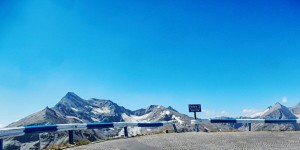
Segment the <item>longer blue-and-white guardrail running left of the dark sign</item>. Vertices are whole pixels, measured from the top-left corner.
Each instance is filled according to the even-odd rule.
[[[177,132],[175,126],[176,121],[165,122],[142,122],[142,123],[129,123],[129,122],[98,122],[98,123],[83,123],[83,124],[53,124],[53,125],[37,125],[37,126],[24,126],[14,128],[0,129],[0,150],[3,150],[3,139],[8,137],[23,136],[28,133],[42,133],[42,132],[69,132],[69,144],[74,144],[74,130],[87,130],[87,129],[102,129],[102,128],[124,128],[124,135],[128,137],[128,127],[162,127],[172,125],[174,132]]]

